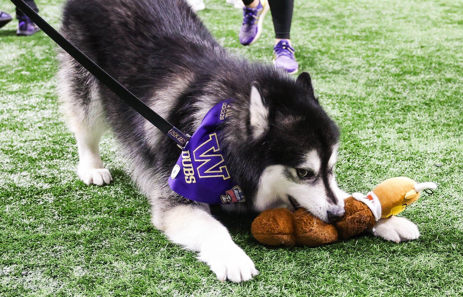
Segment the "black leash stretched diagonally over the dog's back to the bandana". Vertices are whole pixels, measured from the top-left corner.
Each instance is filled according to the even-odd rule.
[[[63,37],[58,31],[56,31],[50,24],[48,24],[37,12],[29,7],[23,0],[11,0],[19,10],[24,12],[42,31],[45,32],[53,41],[55,41],[62,49],[64,49],[75,61],[79,62],[83,68],[87,69],[88,72],[93,74],[98,80],[101,81],[108,89],[113,91],[120,99],[124,100],[125,103],[131,106],[137,111],[142,117],[146,118],[151,124],[157,129],[161,130],[164,134],[172,138],[177,142],[177,146],[181,149],[185,148],[190,136],[183,133],[181,130],[175,128],[172,124],[166,121],[163,117],[158,115],[152,109],[150,109],[144,102],[138,99],[137,96],[132,94],[124,86],[122,86],[117,80],[111,75],[107,74],[100,66],[93,62],[88,56],[82,53],[74,44],[70,43],[69,40]]]

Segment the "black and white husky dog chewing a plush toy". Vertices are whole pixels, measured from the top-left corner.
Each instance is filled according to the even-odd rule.
[[[193,134],[207,111],[233,99],[223,146],[230,175],[246,202],[225,210],[262,211],[303,206],[325,221],[344,214],[345,192],[333,166],[339,130],[320,107],[309,74],[297,80],[269,65],[250,63],[223,49],[183,0],[69,0],[62,33],[122,85],[177,128]],[[147,120],[61,52],[60,89],[79,152],[77,174],[86,184],[112,180],[98,143],[113,130],[131,176],[149,198],[152,223],[169,239],[198,252],[220,280],[257,275],[207,204],[168,186],[180,150]],[[417,238],[415,224],[382,219],[374,234]]]

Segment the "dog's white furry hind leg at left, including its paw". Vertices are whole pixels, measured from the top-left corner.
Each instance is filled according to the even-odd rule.
[[[103,186],[113,178],[103,166],[99,142],[107,130],[93,76],[67,54],[60,54],[59,91],[63,113],[74,132],[79,153],[77,175],[85,184]]]

